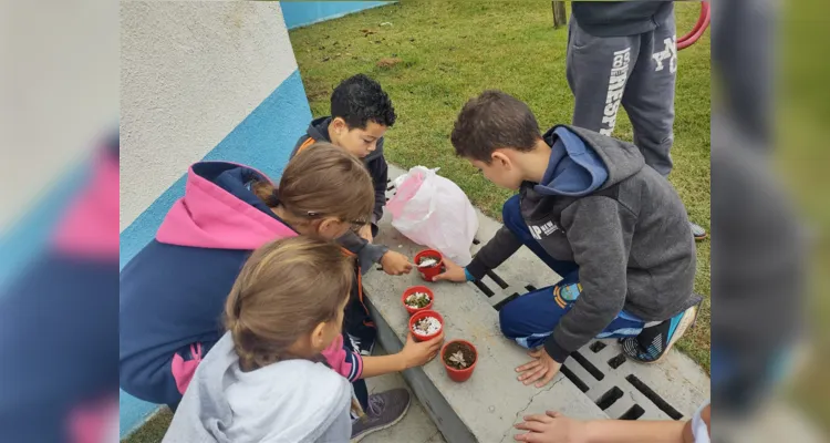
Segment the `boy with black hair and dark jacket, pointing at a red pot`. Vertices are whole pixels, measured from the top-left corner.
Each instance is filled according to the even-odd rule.
[[[390,275],[408,274],[413,265],[406,256],[390,250],[383,245],[373,245],[377,236],[377,222],[386,205],[387,169],[383,156],[383,135],[395,124],[395,109],[381,85],[366,75],[351,76],[338,85],[331,96],[331,116],[315,119],[307,134],[294,146],[292,156],[307,150],[318,141],[340,146],[361,158],[372,175],[375,205],[370,225],[356,234],[349,233],[340,239],[346,248],[357,254],[361,268],[371,269],[372,262],[381,264]]]

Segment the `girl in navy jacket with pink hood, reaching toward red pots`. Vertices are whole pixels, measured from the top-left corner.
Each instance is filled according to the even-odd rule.
[[[372,197],[372,179],[361,162],[326,143],[294,157],[279,188],[247,166],[193,165],[185,196],[174,204],[156,239],[121,272],[122,389],[175,409],[199,361],[221,337],[218,319],[225,299],[250,253],[297,235],[338,238],[369,220]],[[362,357],[353,338],[373,338],[374,324],[357,280],[344,320],[350,339],[341,357],[349,364],[339,367],[367,408],[364,424],[377,429],[405,412],[408,393],[370,396],[361,379],[424,364],[440,340],[407,341],[397,354]]]

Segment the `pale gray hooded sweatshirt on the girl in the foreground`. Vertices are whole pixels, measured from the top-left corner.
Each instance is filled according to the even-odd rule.
[[[163,443],[347,442],[351,402],[349,381],[323,363],[242,372],[228,332],[196,370]]]

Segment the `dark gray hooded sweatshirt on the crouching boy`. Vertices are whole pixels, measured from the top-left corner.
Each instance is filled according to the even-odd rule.
[[[636,146],[575,126],[554,126],[542,183],[525,183],[525,223],[551,257],[575,261],[582,292],[544,349],[562,362],[625,309],[662,321],[701,301],[693,295],[695,244],[686,209]],[[507,228],[467,270],[476,279],[521,247]],[[553,300],[551,299],[551,302]]]

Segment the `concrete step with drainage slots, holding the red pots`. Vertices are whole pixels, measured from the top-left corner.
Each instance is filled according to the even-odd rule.
[[[404,172],[390,167],[390,176]],[[390,195],[394,189],[390,189]],[[474,250],[486,244],[499,223],[479,213]],[[377,243],[414,256],[423,246],[397,233],[388,215],[381,220]],[[643,365],[620,357],[613,341],[594,341],[574,353],[546,388],[526,387],[515,368],[529,358],[504,338],[498,311],[511,297],[560,279],[530,250],[522,248],[479,285],[426,284],[435,292],[434,309],[445,319],[447,340],[466,339],[479,352],[470,380],[449,380],[438,359],[404,372],[427,414],[447,442],[507,442],[526,413],[558,410],[579,419],[688,419],[709,396],[706,374],[687,357],[672,351],[661,363]],[[378,327],[378,341],[390,352],[403,347],[408,315],[401,293],[424,285],[419,275],[391,277],[381,271],[363,279],[369,306]],[[396,434],[397,435],[397,434]]]

